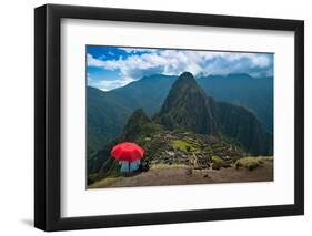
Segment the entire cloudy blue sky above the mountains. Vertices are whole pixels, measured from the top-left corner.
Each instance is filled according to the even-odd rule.
[[[151,74],[194,76],[249,73],[273,75],[272,53],[242,53],[173,49],[87,45],[89,86],[110,91]]]

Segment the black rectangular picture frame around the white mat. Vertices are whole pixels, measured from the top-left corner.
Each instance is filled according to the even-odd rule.
[[[103,216],[60,216],[61,19],[292,31],[295,38],[294,204]],[[34,226],[47,232],[304,214],[304,22],[182,12],[46,4],[34,10]]]

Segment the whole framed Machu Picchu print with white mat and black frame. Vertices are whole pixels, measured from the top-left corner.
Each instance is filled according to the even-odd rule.
[[[304,23],[34,10],[34,225],[301,215]]]

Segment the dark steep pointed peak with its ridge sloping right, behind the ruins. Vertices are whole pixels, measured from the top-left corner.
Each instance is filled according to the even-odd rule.
[[[189,72],[173,83],[155,122],[168,130],[181,126],[199,134],[223,134],[253,155],[268,155],[272,146],[272,135],[251,111],[208,96]],[[218,148],[220,143],[213,145]]]

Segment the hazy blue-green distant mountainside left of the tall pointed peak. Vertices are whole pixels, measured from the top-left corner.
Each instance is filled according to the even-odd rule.
[[[115,140],[139,107],[149,115],[154,114],[175,80],[177,76],[154,74],[108,92],[88,86],[88,145],[101,150]]]

